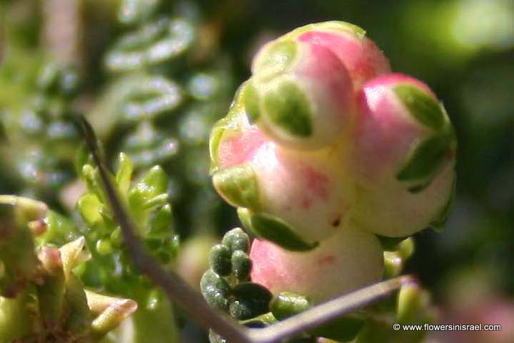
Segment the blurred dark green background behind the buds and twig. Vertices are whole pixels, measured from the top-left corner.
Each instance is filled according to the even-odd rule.
[[[513,1],[0,0],[0,20],[0,194],[70,212],[81,186],[68,119],[83,112],[111,161],[126,151],[136,169],[161,164],[170,174],[185,239],[179,268],[191,280],[203,272],[195,259],[237,225],[211,189],[206,143],[253,53],[303,24],[363,27],[395,71],[438,94],[458,134],[455,207],[443,232],[415,235],[405,272],[430,289],[441,322],[503,324],[487,336],[429,339],[513,338]],[[42,91],[49,62],[74,66],[78,91]]]

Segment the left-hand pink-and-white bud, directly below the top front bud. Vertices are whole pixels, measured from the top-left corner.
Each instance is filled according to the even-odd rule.
[[[346,221],[351,185],[338,149],[293,151],[239,112],[218,136],[213,184],[229,204],[280,219],[304,242],[330,237]],[[211,143],[213,143],[211,141]]]

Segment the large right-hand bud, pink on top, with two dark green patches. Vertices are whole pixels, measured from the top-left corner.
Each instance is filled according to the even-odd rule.
[[[358,184],[353,220],[403,237],[438,219],[453,193],[455,134],[443,106],[421,81],[388,74],[358,93],[344,164]]]

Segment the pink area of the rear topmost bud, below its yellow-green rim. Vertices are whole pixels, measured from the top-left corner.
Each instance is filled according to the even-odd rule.
[[[350,32],[308,31],[298,37],[300,41],[330,49],[348,69],[355,89],[375,76],[388,73],[388,60],[373,41],[359,38]]]

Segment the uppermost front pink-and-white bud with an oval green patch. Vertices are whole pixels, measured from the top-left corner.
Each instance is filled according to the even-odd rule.
[[[341,60],[325,46],[271,41],[253,60],[252,71],[246,111],[277,143],[319,149],[350,129],[353,84]]]

